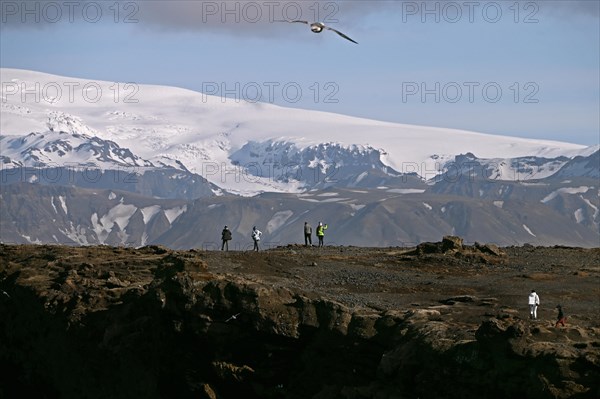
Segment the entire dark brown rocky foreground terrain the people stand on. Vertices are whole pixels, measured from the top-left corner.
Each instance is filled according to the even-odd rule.
[[[600,397],[599,248],[0,245],[0,290],[2,398]]]

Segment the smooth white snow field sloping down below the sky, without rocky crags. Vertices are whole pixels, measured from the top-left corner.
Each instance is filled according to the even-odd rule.
[[[149,161],[181,168],[180,162],[217,186],[242,195],[302,190],[299,182],[281,182],[264,172],[262,177],[249,177],[246,164],[268,165],[267,160],[252,152],[242,162],[230,159],[248,142],[289,143],[298,150],[323,143],[371,147],[381,150],[385,165],[426,178],[438,173],[441,162],[467,152],[492,159],[506,169],[510,168],[510,159],[516,157],[572,158],[598,149],[236,102],[175,87],[92,81],[6,68],[0,74],[2,155],[13,159],[21,156],[14,142],[7,144],[10,136],[64,131],[110,140],[129,149],[139,157],[132,158],[131,165],[144,166],[144,161]],[[73,165],[89,161],[89,156],[66,152],[48,161]],[[26,165],[26,159],[19,161]],[[320,159],[313,162],[326,164]],[[502,173],[511,175],[506,170]]]

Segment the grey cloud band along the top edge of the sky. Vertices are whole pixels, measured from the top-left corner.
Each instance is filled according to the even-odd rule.
[[[462,9],[465,7],[462,0],[0,0],[0,3],[2,28],[41,28],[61,23],[127,23],[137,24],[143,29],[210,31],[251,36],[277,35],[290,31],[289,26],[284,28],[286,24],[281,21],[291,19],[318,20],[341,28],[355,26],[377,13],[395,13],[401,23],[415,9],[420,13],[426,8],[442,9],[449,3]],[[503,0],[469,3],[477,4],[478,7],[489,3],[501,4],[506,12],[515,4],[514,1]],[[596,0],[522,0],[519,4],[522,13],[533,13],[536,17],[551,16],[569,21],[581,17],[597,19],[600,16],[600,2]]]

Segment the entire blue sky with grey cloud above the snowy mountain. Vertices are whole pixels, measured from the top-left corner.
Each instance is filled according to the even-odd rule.
[[[595,0],[1,3],[2,67],[600,143]]]

